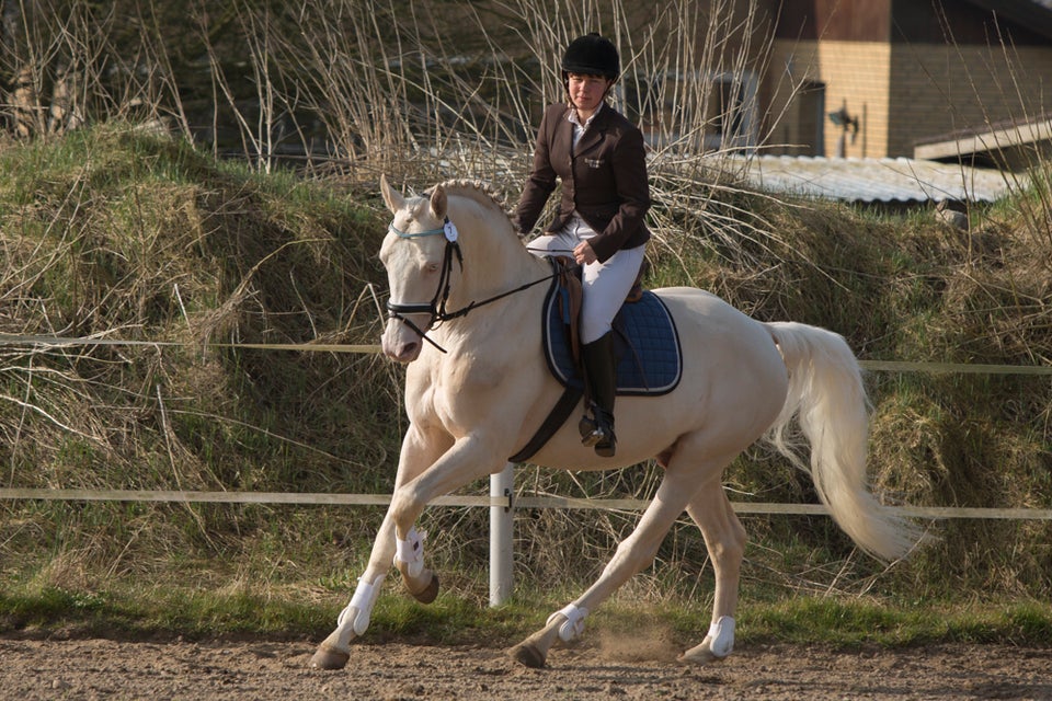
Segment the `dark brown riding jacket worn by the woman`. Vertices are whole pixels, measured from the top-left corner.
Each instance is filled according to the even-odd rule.
[[[554,191],[557,177],[561,179],[562,202],[546,231],[561,229],[576,210],[597,232],[590,243],[599,262],[605,262],[621,249],[634,249],[650,240],[643,222],[650,209],[643,135],[604,104],[573,152],[569,112],[564,104],[545,110],[534,166],[514,219],[519,232],[529,232]]]

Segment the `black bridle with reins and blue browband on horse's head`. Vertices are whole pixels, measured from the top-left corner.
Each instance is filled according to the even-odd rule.
[[[504,299],[510,295],[515,292],[521,292],[525,289],[533,287],[534,285],[540,285],[547,280],[558,277],[561,273],[553,273],[546,277],[542,277],[538,280],[531,283],[526,283],[521,285],[515,289],[511,289],[506,292],[501,292],[482,301],[472,301],[466,307],[462,307],[456,311],[449,311],[446,309],[446,302],[449,301],[449,289],[453,281],[453,261],[456,257],[457,264],[460,266],[460,269],[464,271],[464,252],[460,250],[460,243],[458,239],[457,227],[451,221],[449,217],[446,217],[443,221],[442,227],[438,229],[427,229],[426,231],[419,231],[416,233],[409,233],[408,231],[401,231],[392,221],[388,225],[387,230],[397,235],[399,239],[424,239],[427,237],[445,235],[446,238],[446,249],[442,256],[442,272],[438,275],[438,288],[435,290],[435,296],[432,297],[430,302],[415,302],[415,303],[405,303],[405,302],[393,302],[390,299],[387,300],[387,318],[388,319],[398,319],[400,322],[412,329],[416,335],[421,338],[435,346],[438,350],[447,353],[445,348],[435,343],[432,338],[427,336],[427,331],[434,329],[437,324],[441,324],[446,321],[451,321],[454,319],[459,319],[460,317],[467,317],[471,311],[479,307],[483,307],[491,302],[495,302],[499,299]],[[405,314],[430,314],[431,319],[425,324],[426,330],[421,330],[420,326],[414,324],[412,320],[407,319]]]

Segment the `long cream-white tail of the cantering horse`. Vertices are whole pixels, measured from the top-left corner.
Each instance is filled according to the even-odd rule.
[[[819,498],[860,548],[881,560],[902,558],[922,533],[870,491],[869,402],[855,354],[842,336],[824,329],[792,322],[767,326],[789,370],[789,393],[766,438],[811,474]],[[810,468],[789,438],[793,416],[811,444]]]

